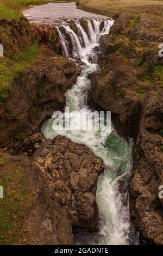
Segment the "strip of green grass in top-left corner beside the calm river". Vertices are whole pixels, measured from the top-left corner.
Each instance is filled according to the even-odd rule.
[[[61,1],[77,2],[76,0],[0,0],[0,19],[19,19],[22,16],[21,10],[27,8],[29,5],[57,3]]]

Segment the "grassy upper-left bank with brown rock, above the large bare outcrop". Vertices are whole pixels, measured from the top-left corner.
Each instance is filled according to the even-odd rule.
[[[9,96],[10,85],[14,78],[32,65],[38,56],[43,55],[38,41],[35,39],[35,29],[24,19],[22,10],[27,9],[30,5],[49,2],[60,3],[61,1],[9,0],[4,2],[0,0],[0,43],[4,48],[4,58],[0,59],[0,103]],[[74,1],[72,0],[72,2]],[[17,31],[16,27],[18,27]],[[19,41],[17,40],[17,34],[20,35]]]

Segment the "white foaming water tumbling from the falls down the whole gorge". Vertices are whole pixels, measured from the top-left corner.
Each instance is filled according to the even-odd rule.
[[[104,28],[100,32],[101,22],[104,22]],[[77,83],[67,90],[66,99],[67,106],[70,111],[78,110],[86,111],[87,106],[87,89],[90,88],[91,82],[88,75],[98,69],[96,62],[90,62],[90,57],[95,56],[95,46],[98,46],[99,34],[109,33],[109,29],[113,23],[112,20],[106,18],[87,19],[87,33],[83,31],[79,21],[76,22],[77,28],[83,36],[84,45],[79,40],[76,33],[72,31],[70,25],[63,26],[65,31],[71,35],[71,44],[73,44],[73,58],[80,56],[84,63],[82,72],[78,77]],[[66,43],[64,35],[60,36],[62,46],[65,48]],[[64,52],[66,52],[64,50]],[[78,121],[78,117],[74,117]],[[72,118],[73,119],[73,118]],[[86,120],[85,120],[86,121]],[[104,173],[99,176],[97,186],[97,204],[99,214],[102,218],[102,224],[99,232],[99,244],[102,245],[128,245],[130,218],[128,203],[122,203],[121,194],[118,191],[118,176],[131,169],[131,143],[119,137],[112,126],[112,133],[109,137],[101,136],[101,133],[92,131],[74,131],[73,127],[70,131],[54,131],[52,129],[53,119],[50,119],[42,127],[43,135],[46,138],[53,139],[58,134],[64,135],[73,142],[85,144],[96,156],[103,159],[105,164]]]

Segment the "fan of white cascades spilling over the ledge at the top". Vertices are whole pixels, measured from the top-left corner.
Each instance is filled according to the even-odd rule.
[[[102,34],[109,34],[109,28],[112,25],[113,21],[111,19],[84,19],[84,21],[87,23],[87,26],[85,30],[82,27],[82,24],[80,23],[80,20],[73,20],[74,27],[76,28],[77,32],[74,32],[74,30],[71,28],[70,21],[64,21],[61,22],[60,25],[57,26],[57,30],[60,36],[60,42],[62,44],[62,53],[65,56],[69,56],[72,58],[80,58],[82,59],[85,57],[83,54],[85,53],[85,50],[89,49],[89,47],[92,46],[92,44],[98,44],[99,36]],[[103,24],[102,32],[100,32],[101,24]],[[64,31],[61,31],[60,28],[64,28]],[[68,55],[68,52],[70,53],[70,49],[68,48],[68,45],[66,44],[66,35],[70,35],[71,37],[71,46],[72,46],[72,56],[71,54]]]

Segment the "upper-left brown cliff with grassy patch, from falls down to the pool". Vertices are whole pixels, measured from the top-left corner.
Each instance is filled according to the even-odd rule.
[[[4,46],[4,57],[0,62],[0,94],[4,90],[7,95],[0,102],[0,145],[10,148],[14,142],[39,131],[53,111],[62,109],[65,92],[76,82],[80,68],[57,54],[61,53],[61,48],[54,27],[36,27],[25,18],[1,21],[0,27],[0,42]],[[35,41],[39,56],[34,58],[35,52],[31,52],[32,61],[29,62],[26,56]],[[26,49],[23,58],[22,50]],[[18,71],[15,71],[17,66]],[[3,82],[6,72],[8,80]]]

